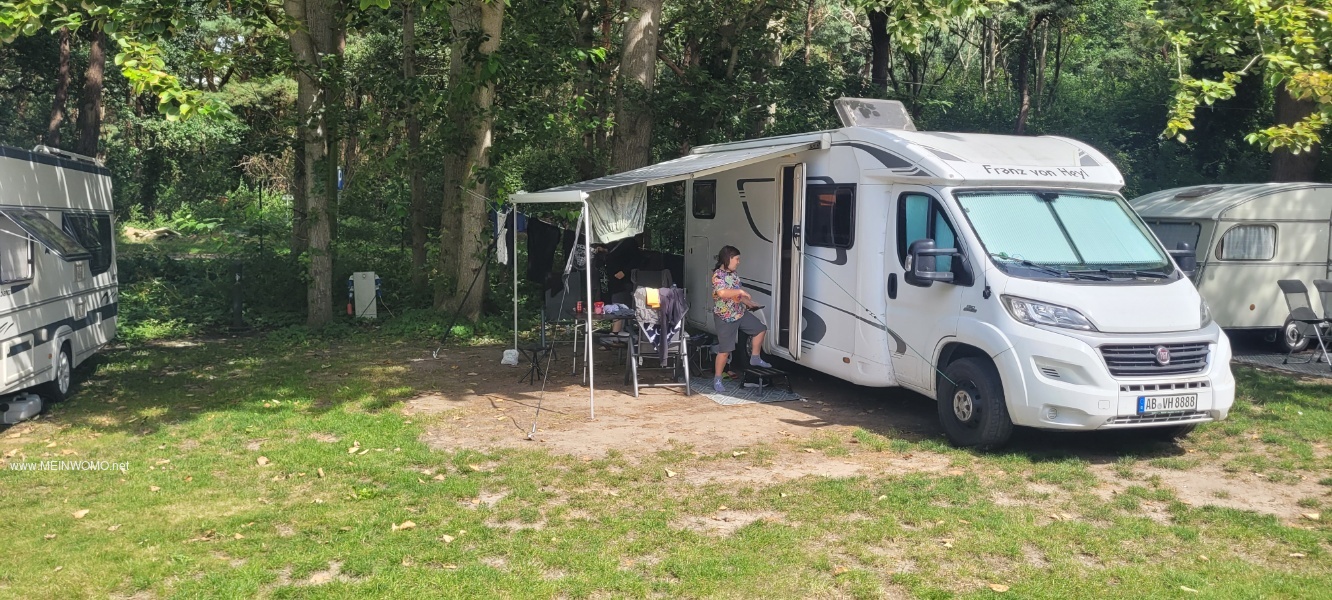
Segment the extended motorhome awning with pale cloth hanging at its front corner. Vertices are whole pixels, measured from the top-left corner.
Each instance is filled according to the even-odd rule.
[[[593,241],[614,241],[643,231],[647,217],[647,187],[703,177],[718,171],[818,148],[818,141],[799,141],[757,148],[721,149],[681,156],[675,160],[607,175],[587,181],[515,193],[515,203],[567,203],[586,197],[590,211]]]

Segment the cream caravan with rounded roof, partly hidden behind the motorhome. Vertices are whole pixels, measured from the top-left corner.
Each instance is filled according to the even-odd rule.
[[[1289,321],[1276,281],[1309,285],[1332,275],[1332,185],[1195,185],[1148,193],[1131,204],[1167,248],[1180,243],[1196,248],[1193,283],[1217,324],[1265,329],[1285,351],[1308,345]]]

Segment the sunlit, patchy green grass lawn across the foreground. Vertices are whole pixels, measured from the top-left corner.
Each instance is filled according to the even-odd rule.
[[[1100,471],[1067,448],[978,455],[863,428],[585,459],[426,447],[450,415],[401,411],[430,389],[404,367],[425,345],[274,335],[105,352],[72,400],[0,431],[0,455],[128,468],[0,471],[0,596],[1332,597],[1325,381],[1237,369],[1231,420],[1181,449],[1130,444]],[[948,468],[673,475],[794,452]],[[1319,483],[1309,516],[1184,503],[1151,475],[1203,467]],[[1127,484],[1107,493],[1102,471]]]

